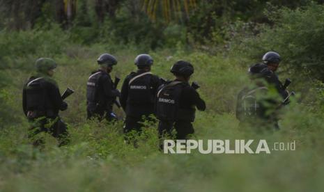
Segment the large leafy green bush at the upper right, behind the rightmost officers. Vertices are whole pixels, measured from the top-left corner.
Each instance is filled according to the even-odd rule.
[[[260,60],[266,51],[277,51],[284,70],[324,81],[324,6],[310,3],[268,14],[274,26],[244,40],[240,45],[243,54]]]

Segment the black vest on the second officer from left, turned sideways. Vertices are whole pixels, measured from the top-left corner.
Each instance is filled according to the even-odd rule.
[[[87,104],[96,104],[98,103],[98,81],[102,76],[102,72],[95,72],[91,74],[86,83],[86,102]]]

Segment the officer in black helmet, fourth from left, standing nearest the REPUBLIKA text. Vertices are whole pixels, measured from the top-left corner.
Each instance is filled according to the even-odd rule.
[[[199,93],[188,83],[194,73],[194,67],[187,61],[178,61],[171,67],[176,76],[167,81],[157,92],[156,113],[159,122],[159,134],[171,134],[176,129],[176,139],[186,139],[194,133],[196,108],[205,111],[206,104]]]

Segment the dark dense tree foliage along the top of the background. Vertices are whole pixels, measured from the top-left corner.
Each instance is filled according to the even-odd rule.
[[[0,1],[0,30],[51,29],[55,22],[74,42],[134,43],[146,49],[221,43],[233,22],[273,24],[265,11],[296,9],[298,1],[148,0]],[[322,1],[318,0],[319,3]],[[150,11],[151,10],[151,11]],[[288,9],[286,9],[288,10]],[[152,16],[152,14],[155,14]]]

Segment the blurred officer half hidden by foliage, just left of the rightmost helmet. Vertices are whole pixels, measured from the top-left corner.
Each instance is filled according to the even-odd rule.
[[[268,94],[268,83],[261,73],[267,66],[256,64],[249,67],[249,86],[238,93],[236,102],[236,118],[240,127],[263,131],[263,128],[279,129],[277,124],[277,109],[280,105],[280,95]]]

